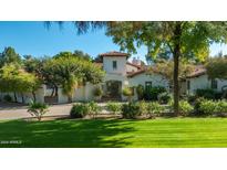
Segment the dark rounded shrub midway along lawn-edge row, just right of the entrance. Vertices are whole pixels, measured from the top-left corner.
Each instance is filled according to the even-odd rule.
[[[128,103],[122,105],[123,118],[136,118],[140,115],[140,106],[136,103]]]

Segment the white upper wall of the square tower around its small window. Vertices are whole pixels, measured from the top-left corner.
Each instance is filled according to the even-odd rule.
[[[113,61],[116,61],[117,68],[113,70]],[[106,73],[115,73],[126,75],[126,57],[103,57],[103,68]]]

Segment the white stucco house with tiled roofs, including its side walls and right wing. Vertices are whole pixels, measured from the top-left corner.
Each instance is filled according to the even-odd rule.
[[[159,74],[147,74],[147,66],[142,65],[138,59],[133,59],[128,62],[128,54],[121,52],[107,52],[100,54],[100,61],[94,63],[94,66],[100,66],[105,71],[105,76],[102,83],[91,84],[86,83],[84,86],[80,86],[74,89],[72,100],[73,102],[89,102],[95,100],[94,89],[101,87],[103,89],[103,100],[126,100],[126,96],[122,94],[123,88],[131,87],[134,92],[133,98],[137,100],[137,94],[135,87],[138,85],[146,86],[163,86],[167,91],[169,89],[169,82]],[[180,94],[195,94],[196,89],[213,88],[217,92],[227,89],[227,79],[210,79],[206,73],[206,68],[203,65],[196,67],[196,70],[180,81]],[[52,87],[42,85],[35,92],[37,102],[63,104],[68,103],[68,97],[63,95],[62,88],[59,87],[58,96],[52,96]],[[10,95],[14,98],[12,93],[0,93],[0,99],[4,95]],[[24,93],[16,94],[18,102],[22,103],[22,96],[24,103],[30,103],[33,99],[32,94]]]

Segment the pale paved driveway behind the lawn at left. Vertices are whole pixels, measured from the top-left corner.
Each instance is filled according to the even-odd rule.
[[[52,105],[45,116],[69,115],[72,104]],[[0,103],[0,119],[29,118],[31,115],[27,111],[27,106],[20,104]]]

